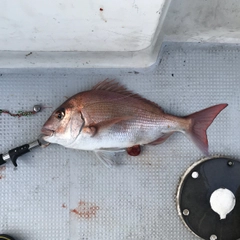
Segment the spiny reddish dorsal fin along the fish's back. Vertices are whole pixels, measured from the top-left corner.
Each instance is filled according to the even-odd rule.
[[[124,95],[126,97],[136,98],[136,99],[144,101],[145,103],[152,104],[155,107],[158,107],[161,111],[163,111],[162,108],[155,102],[152,102],[146,98],[143,98],[139,94],[129,91],[125,86],[121,85],[120,83],[116,82],[115,80],[110,80],[107,78],[104,81],[96,84],[92,88],[92,90],[103,90],[103,91],[108,91],[108,92],[115,92],[115,93]]]

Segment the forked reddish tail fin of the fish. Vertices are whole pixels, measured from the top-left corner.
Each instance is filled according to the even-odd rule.
[[[190,120],[190,126],[189,129],[186,130],[186,133],[206,155],[208,155],[208,139],[206,131],[217,115],[227,106],[228,104],[215,105],[185,117]]]

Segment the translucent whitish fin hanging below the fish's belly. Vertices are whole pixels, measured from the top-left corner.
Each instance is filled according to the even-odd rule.
[[[95,154],[98,159],[108,168],[117,165],[117,156],[116,152],[124,151],[124,150],[117,150],[117,151],[110,151],[110,150],[95,150]]]

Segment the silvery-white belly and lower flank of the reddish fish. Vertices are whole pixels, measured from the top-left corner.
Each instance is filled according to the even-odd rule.
[[[66,147],[81,150],[123,149],[151,143],[170,131],[172,128],[164,121],[129,121],[101,129],[94,136],[82,132]]]

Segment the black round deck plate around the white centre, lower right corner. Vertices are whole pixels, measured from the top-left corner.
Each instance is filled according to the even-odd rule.
[[[192,177],[193,172],[198,173],[197,178]],[[227,188],[236,197],[234,209],[222,220],[210,206],[211,194],[219,188]],[[223,157],[199,161],[185,173],[177,195],[179,214],[196,235],[208,240],[240,239],[239,161]]]

